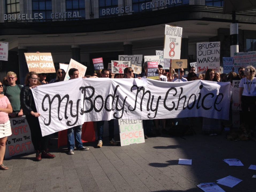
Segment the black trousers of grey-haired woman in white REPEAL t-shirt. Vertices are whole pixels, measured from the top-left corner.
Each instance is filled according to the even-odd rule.
[[[256,96],[243,96],[242,95],[242,112],[244,123],[254,131],[256,125]],[[250,108],[250,111],[249,111]]]

